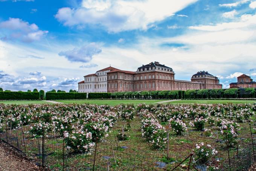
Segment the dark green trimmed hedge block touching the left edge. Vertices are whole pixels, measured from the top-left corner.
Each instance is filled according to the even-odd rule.
[[[39,100],[39,92],[0,91],[0,100]]]

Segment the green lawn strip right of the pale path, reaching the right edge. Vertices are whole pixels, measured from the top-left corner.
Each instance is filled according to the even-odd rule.
[[[254,103],[256,100],[179,100],[172,101],[172,104],[188,104],[188,103],[197,103],[197,104],[218,104],[218,103]]]

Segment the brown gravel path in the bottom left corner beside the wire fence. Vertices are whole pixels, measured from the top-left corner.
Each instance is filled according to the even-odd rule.
[[[0,141],[0,171],[40,171],[14,148]]]

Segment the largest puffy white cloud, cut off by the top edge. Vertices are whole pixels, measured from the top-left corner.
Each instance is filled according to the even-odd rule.
[[[149,28],[197,0],[83,0],[81,8],[61,8],[55,17],[65,26],[101,24],[109,32]],[[161,10],[159,10],[161,9]]]

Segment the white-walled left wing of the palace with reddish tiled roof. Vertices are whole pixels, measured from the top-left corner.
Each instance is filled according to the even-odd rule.
[[[107,73],[113,70],[117,69],[107,67],[84,76],[84,80],[78,83],[78,92],[107,92]]]

